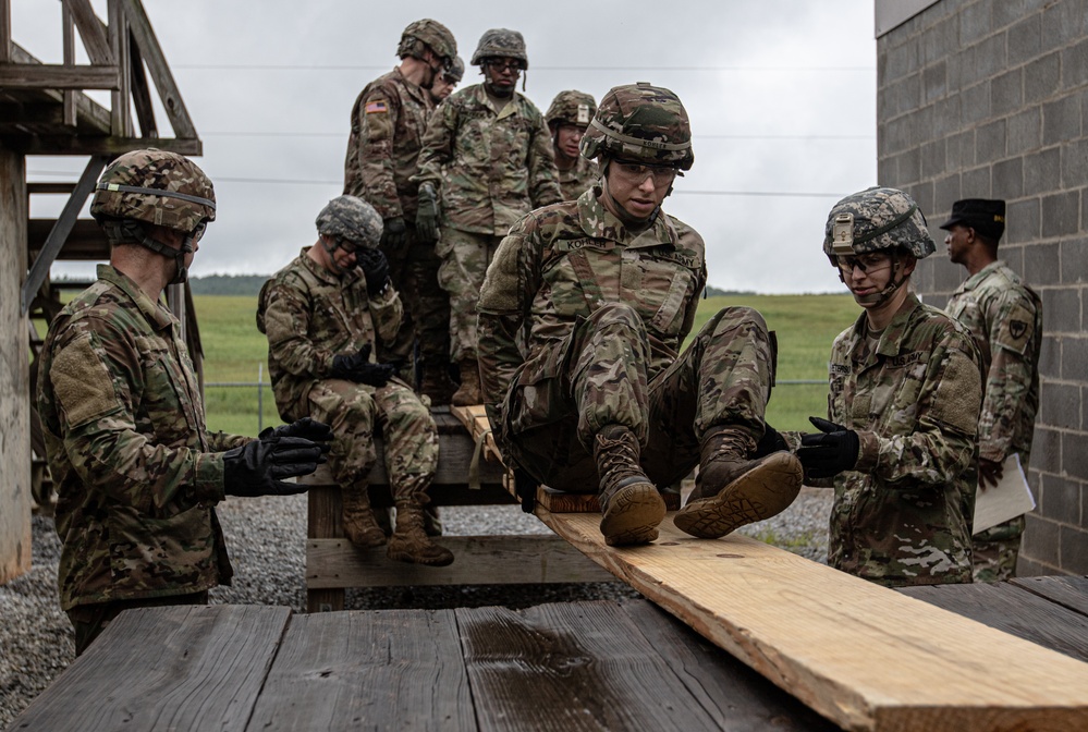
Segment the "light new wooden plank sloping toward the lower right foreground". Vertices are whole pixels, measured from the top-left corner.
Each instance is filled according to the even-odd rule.
[[[596,516],[537,515],[847,729],[1088,729],[1088,663],[744,536],[668,516],[656,544],[612,548]]]

